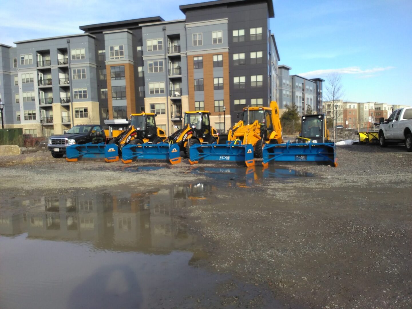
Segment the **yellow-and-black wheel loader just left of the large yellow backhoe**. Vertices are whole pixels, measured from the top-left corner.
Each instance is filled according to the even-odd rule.
[[[189,157],[189,149],[192,145],[215,143],[219,134],[210,125],[209,115],[210,112],[206,110],[185,112],[183,128],[174,132],[167,140],[171,144],[178,144],[185,157]]]

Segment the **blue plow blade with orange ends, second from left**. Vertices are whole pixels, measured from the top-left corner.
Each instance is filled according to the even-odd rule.
[[[166,160],[170,164],[180,163],[180,148],[178,144],[144,143],[126,145],[122,148],[122,162],[130,163],[133,160]]]

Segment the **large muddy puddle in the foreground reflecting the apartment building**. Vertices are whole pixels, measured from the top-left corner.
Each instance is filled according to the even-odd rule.
[[[219,308],[229,275],[196,267],[207,255],[173,215],[214,190],[198,183],[2,201],[24,211],[0,211],[0,308]],[[242,283],[233,293],[261,291]]]

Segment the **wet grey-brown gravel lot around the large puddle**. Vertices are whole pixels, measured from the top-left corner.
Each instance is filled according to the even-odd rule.
[[[1,158],[0,190],[8,199],[78,188],[145,192],[215,183],[218,190],[206,199],[176,210],[207,244],[209,258],[198,266],[270,291],[284,307],[411,308],[412,153],[404,146],[351,145],[338,147],[338,158],[337,168],[286,165],[314,177],[258,177],[253,187],[239,187],[236,180],[191,173],[187,160],[172,167],[68,163],[33,152]],[[137,166],[165,168],[128,172]]]

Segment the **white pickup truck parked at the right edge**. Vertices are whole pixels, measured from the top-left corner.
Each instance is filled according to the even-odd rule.
[[[406,150],[412,151],[412,107],[393,111],[388,119],[379,124],[379,144],[405,143]]]

